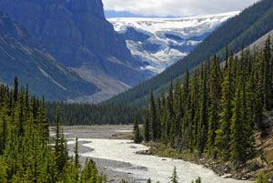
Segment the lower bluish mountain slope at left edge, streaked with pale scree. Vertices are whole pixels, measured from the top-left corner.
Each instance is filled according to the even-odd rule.
[[[31,94],[47,100],[94,94],[99,89],[59,64],[43,46],[0,10],[0,82],[13,86],[15,76]]]

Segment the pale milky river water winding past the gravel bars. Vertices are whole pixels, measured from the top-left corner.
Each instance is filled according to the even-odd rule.
[[[147,150],[148,147],[133,144],[131,140],[79,138],[90,152],[80,154],[86,158],[103,158],[130,163],[129,168],[111,168],[125,172],[136,179],[151,178],[152,182],[169,182],[174,167],[177,168],[179,183],[191,183],[193,179],[202,178],[202,183],[249,183],[250,181],[234,180],[218,177],[212,170],[179,159],[159,158],[157,156],[138,155],[136,151]],[[75,141],[68,141],[68,144]],[[93,150],[91,150],[91,148]],[[139,182],[146,182],[139,180]]]

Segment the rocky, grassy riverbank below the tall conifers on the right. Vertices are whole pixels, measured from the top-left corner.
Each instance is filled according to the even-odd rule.
[[[231,162],[224,162],[212,158],[200,157],[197,154],[184,151],[177,153],[165,145],[150,142],[145,143],[149,150],[137,152],[143,155],[153,155],[162,158],[175,158],[202,165],[212,169],[218,176],[223,178],[234,178],[238,180],[255,181],[258,174],[262,172],[273,182],[273,114],[266,122],[268,125],[268,136],[261,139],[260,133],[255,135],[256,156],[248,160],[246,165],[235,168]]]

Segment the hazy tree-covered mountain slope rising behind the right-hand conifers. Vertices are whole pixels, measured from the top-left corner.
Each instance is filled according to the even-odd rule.
[[[146,82],[113,97],[106,103],[146,104],[151,89],[154,90],[155,96],[159,97],[167,91],[170,81],[177,78],[181,79],[187,69],[199,66],[207,57],[217,54],[221,60],[225,60],[226,43],[229,50],[237,53],[242,45],[248,46],[259,37],[267,34],[273,29],[272,17],[273,1],[258,1],[258,3],[249,6],[239,15],[230,18],[176,64]]]

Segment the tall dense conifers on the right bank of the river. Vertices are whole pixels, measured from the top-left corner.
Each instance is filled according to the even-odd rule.
[[[231,52],[223,66],[213,56],[193,76],[187,71],[182,85],[171,84],[167,96],[155,101],[151,91],[144,140],[244,164],[256,153],[254,133],[268,135],[264,112],[273,107],[272,48],[268,37],[263,51]]]

